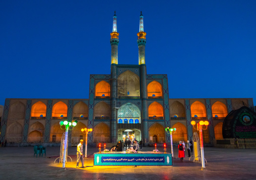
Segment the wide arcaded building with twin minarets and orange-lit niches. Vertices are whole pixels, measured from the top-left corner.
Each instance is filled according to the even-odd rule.
[[[143,15],[138,35],[138,65],[118,64],[116,15],[110,34],[111,72],[90,75],[89,99],[6,99],[1,141],[8,143],[60,142],[64,129],[59,122],[78,120],[69,134],[70,142],[85,139],[82,128],[93,128],[88,143],[135,138],[149,143],[170,143],[167,126],[176,127],[173,142],[189,140],[196,131],[191,120],[209,120],[204,142],[213,145],[223,139],[222,125],[229,112],[242,106],[253,109],[252,98],[169,99],[166,74],[147,74],[146,33]],[[253,109],[254,111],[254,109]]]

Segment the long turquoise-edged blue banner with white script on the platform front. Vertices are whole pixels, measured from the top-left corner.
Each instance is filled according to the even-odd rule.
[[[172,165],[170,153],[94,153],[94,165]]]

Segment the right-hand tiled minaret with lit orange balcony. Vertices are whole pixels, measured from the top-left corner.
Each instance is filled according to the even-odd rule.
[[[140,16],[140,32],[137,34],[138,36],[138,47],[139,47],[139,65],[145,64],[145,46],[146,46],[146,33],[144,32],[143,26],[143,15],[141,12]]]

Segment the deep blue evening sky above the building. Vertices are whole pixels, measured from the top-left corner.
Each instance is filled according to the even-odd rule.
[[[167,74],[169,98],[253,98],[256,1],[1,1],[0,104],[5,98],[88,98],[90,74],[138,64],[144,15],[147,74]]]

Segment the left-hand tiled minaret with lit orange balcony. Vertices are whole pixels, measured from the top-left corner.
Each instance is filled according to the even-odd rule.
[[[113,16],[113,31],[110,33],[111,39],[111,64],[118,64],[118,36],[119,33],[117,33],[117,26],[116,26],[116,15]]]

